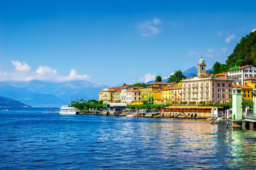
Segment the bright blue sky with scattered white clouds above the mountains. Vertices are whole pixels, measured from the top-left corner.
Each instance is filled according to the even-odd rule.
[[[2,0],[0,81],[167,79],[225,63],[255,29],[254,0]]]

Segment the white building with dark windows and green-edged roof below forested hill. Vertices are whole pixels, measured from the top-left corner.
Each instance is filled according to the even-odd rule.
[[[228,70],[229,78],[234,80],[234,84],[244,84],[244,79],[248,77],[256,77],[256,67],[253,65],[235,66]]]

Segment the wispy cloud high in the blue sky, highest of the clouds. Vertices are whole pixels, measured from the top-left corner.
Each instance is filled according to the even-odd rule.
[[[150,35],[158,34],[159,29],[156,28],[156,26],[154,26],[154,25],[159,25],[159,24],[161,24],[161,21],[157,18],[154,18],[153,22],[148,21],[146,23],[140,24],[138,26],[138,31],[144,37],[148,37]]]

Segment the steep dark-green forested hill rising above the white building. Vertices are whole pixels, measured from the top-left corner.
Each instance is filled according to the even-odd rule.
[[[216,62],[213,65],[212,74],[222,73],[234,66],[256,66],[256,31],[242,37],[240,43],[236,44],[233,53],[228,56],[226,64]]]

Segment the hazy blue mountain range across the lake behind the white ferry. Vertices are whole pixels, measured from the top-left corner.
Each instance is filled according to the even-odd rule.
[[[5,81],[0,84],[0,95],[29,104],[33,107],[60,107],[83,98],[98,100],[101,88],[106,85],[88,81]]]

